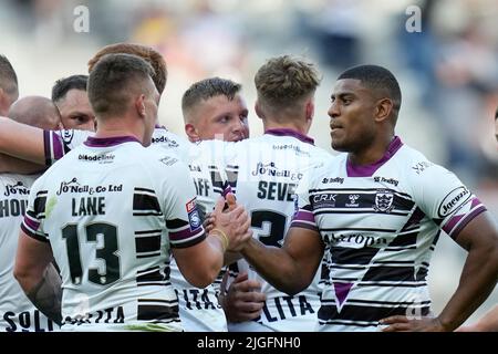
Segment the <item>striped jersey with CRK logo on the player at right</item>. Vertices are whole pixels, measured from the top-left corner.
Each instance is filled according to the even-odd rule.
[[[319,231],[328,249],[319,330],[376,331],[390,315],[428,314],[426,275],[439,232],[455,238],[485,210],[480,201],[398,137],[372,166],[342,154],[308,181],[291,227]]]

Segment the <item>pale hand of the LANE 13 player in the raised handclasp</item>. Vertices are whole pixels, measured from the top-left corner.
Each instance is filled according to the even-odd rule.
[[[226,198],[220,197],[216,202],[212,211],[212,227],[221,230],[228,237],[227,250],[238,252],[252,237],[251,220],[246,209],[237,205],[232,194],[228,194]],[[228,209],[224,212],[225,202],[228,204]]]

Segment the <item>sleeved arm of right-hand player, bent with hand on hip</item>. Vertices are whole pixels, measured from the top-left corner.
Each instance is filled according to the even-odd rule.
[[[440,166],[414,179],[421,208],[468,251],[457,290],[437,317],[384,319],[384,331],[454,331],[489,296],[498,278],[498,230],[485,206]],[[434,180],[439,181],[434,184]],[[422,181],[422,183],[418,183]]]

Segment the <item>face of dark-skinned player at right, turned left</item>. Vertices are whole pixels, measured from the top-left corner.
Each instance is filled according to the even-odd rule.
[[[375,100],[360,80],[335,83],[329,108],[332,148],[354,153],[367,146],[375,135]]]

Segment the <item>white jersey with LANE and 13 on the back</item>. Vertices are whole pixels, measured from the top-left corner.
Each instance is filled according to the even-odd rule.
[[[92,138],[32,187],[22,229],[50,242],[63,330],[181,330],[170,248],[205,238],[188,168],[133,137]]]

